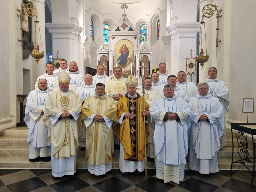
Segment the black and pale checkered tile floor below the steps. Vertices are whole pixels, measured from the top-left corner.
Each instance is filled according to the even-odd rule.
[[[220,171],[209,176],[185,170],[183,182],[163,183],[154,169],[145,175],[124,175],[113,169],[106,175],[91,175],[86,169],[77,169],[76,175],[53,180],[50,169],[0,169],[0,192],[256,192],[256,180],[250,185],[248,171]]]

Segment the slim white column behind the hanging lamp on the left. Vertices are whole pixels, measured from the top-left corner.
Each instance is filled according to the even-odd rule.
[[[37,25],[36,26],[36,45],[39,45],[39,49],[40,49],[39,51],[42,53],[42,51],[45,51],[45,0],[31,0],[31,2],[35,5],[36,11],[38,14],[40,32],[39,32],[39,27]],[[34,21],[35,21],[35,17],[32,17],[33,43],[35,40],[35,22]],[[41,34],[41,40],[42,40],[42,47],[40,42],[40,34]],[[36,65],[36,61],[34,58],[32,58],[32,61],[33,61],[32,82],[35,83],[39,75],[42,75],[45,73],[46,56],[44,56],[39,60],[38,65]]]

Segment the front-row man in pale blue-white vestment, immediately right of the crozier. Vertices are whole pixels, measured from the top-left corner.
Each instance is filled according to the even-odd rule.
[[[150,115],[155,122],[156,177],[165,183],[178,184],[184,180],[191,109],[184,99],[174,94],[172,85],[165,85],[163,93],[150,105]]]

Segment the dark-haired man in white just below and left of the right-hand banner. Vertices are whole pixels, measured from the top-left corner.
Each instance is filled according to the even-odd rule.
[[[198,94],[198,89],[195,83],[188,81],[184,71],[179,71],[177,75],[177,86],[185,91],[188,99],[195,97]]]

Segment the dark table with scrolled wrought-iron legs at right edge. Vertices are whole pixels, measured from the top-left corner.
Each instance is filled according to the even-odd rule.
[[[233,163],[241,163],[244,165],[252,175],[252,182],[251,185],[253,185],[253,177],[254,177],[254,170],[255,170],[255,149],[256,149],[256,142],[253,140],[253,135],[256,135],[256,123],[231,123],[231,134],[232,134],[232,161],[231,161],[231,168],[230,171],[232,171],[232,165]],[[233,161],[234,156],[234,138],[233,138],[233,129],[238,131],[238,134],[240,134],[237,138],[238,147],[237,152],[241,159],[237,161]],[[246,133],[246,136],[244,135]],[[248,152],[248,141],[247,141],[247,134],[252,135],[252,144],[253,144],[253,158],[248,158],[249,152]],[[245,141],[239,141],[239,138],[244,139]],[[241,154],[243,154],[241,156]],[[244,157],[245,156],[245,157]],[[246,165],[247,159],[253,159],[253,170],[251,171]]]

